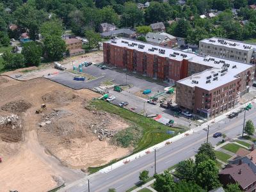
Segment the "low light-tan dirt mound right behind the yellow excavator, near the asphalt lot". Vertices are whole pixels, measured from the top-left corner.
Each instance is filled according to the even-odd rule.
[[[79,99],[78,95],[72,92],[61,92],[59,90],[45,93],[45,95],[42,96],[42,100],[44,100],[44,102],[52,104],[63,104],[68,101],[74,101],[77,99]]]

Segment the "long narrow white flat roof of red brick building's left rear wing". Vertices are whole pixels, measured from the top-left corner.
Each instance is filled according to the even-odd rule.
[[[106,43],[116,45],[118,47],[127,47],[129,49],[135,49],[140,52],[147,52],[148,54],[157,54],[158,56],[163,56],[165,58],[170,58],[172,60],[182,61],[184,59],[189,60],[196,56],[196,54],[180,51],[177,49],[171,49],[168,47],[161,47],[157,45],[152,45],[136,40],[129,40],[126,38],[115,38],[115,40],[109,40]]]

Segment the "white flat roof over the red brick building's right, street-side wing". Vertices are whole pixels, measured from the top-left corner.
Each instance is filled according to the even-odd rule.
[[[198,74],[193,74],[192,76],[186,77],[185,79],[181,79],[177,82],[190,87],[197,86],[205,90],[212,90],[222,86],[223,84],[227,84],[230,81],[234,81],[237,79],[237,74],[253,67],[250,64],[223,60],[223,58],[216,58],[212,56],[196,56],[190,61],[201,65],[207,65],[212,68],[204,70]]]

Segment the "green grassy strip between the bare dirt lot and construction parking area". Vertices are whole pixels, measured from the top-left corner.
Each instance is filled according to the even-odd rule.
[[[128,122],[132,122],[143,129],[143,136],[140,139],[138,145],[134,148],[134,153],[156,145],[157,143],[160,143],[161,141],[167,140],[168,138],[172,138],[174,136],[166,134],[166,131],[170,130],[175,131],[176,133],[184,132],[183,129],[167,127],[151,118],[138,115],[124,108],[119,108],[118,106],[109,104],[108,102],[105,102],[103,100],[93,100],[91,105],[98,110],[103,110],[109,113],[119,115],[121,118],[124,118]],[[115,161],[113,161],[112,163],[115,163]],[[105,166],[101,166],[100,168],[89,168],[89,172],[94,173],[104,167]]]

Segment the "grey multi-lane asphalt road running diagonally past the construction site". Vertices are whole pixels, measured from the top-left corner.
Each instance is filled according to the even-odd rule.
[[[246,112],[246,118],[253,120],[256,124],[256,109],[255,104],[253,109]],[[243,113],[240,113],[234,119],[225,118],[218,123],[212,124],[209,129],[209,142],[216,145],[221,138],[213,138],[215,132],[223,132],[229,138],[242,133],[243,129]],[[200,130],[176,141],[166,147],[160,148],[156,152],[156,171],[163,172],[170,166],[173,166],[179,161],[187,159],[196,154],[196,150],[202,143],[206,141],[207,132]],[[97,173],[90,177],[90,191],[108,191],[109,188],[115,188],[116,191],[125,191],[138,183],[139,174],[142,170],[148,170],[150,175],[154,174],[154,153],[140,157],[135,161],[116,168],[108,173]],[[61,191],[88,191],[88,180],[81,179],[74,184],[67,185]]]

